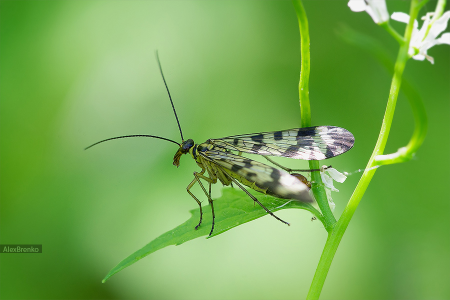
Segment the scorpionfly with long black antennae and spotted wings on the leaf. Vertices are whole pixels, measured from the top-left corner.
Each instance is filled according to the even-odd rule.
[[[193,172],[194,178],[186,187],[187,192],[195,199],[200,208],[200,220],[195,226],[195,229],[200,226],[203,217],[201,202],[190,191],[195,183],[199,184],[211,205],[212,226],[209,235],[212,234],[214,229],[215,219],[213,200],[211,198],[211,184],[216,183],[217,181],[220,181],[223,185],[235,184],[254,202],[258,203],[268,214],[285,224],[289,224],[267,209],[255,196],[248,192],[243,185],[278,198],[313,202],[314,199],[309,193],[310,182],[308,182],[301,174],[289,173],[294,170],[290,170],[277,164],[266,155],[305,160],[321,160],[342,154],[353,146],[353,135],[348,130],[336,126],[313,126],[280,131],[232,135],[222,138],[210,138],[200,144],[196,144],[190,138],[184,140],[178,116],[176,115],[175,106],[173,105],[167,83],[162,73],[157,52],[156,60],[167,90],[170,104],[172,105],[176,123],[178,124],[181,143],[157,135],[132,134],[103,139],[91,144],[85,149],[107,140],[137,136],[159,138],[177,144],[179,148],[173,157],[173,165],[178,167],[181,156],[189,153],[201,168],[199,172]],[[233,151],[239,154],[243,152],[262,155],[281,169],[248,159],[233,153]],[[200,179],[208,183],[208,190],[206,190]]]

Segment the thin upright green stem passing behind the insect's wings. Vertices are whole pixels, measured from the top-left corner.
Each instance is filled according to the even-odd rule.
[[[309,56],[309,28],[306,12],[303,7],[303,3],[300,0],[292,1],[297,14],[298,26],[300,29],[300,81],[298,83],[298,94],[300,98],[300,115],[301,126],[308,127],[311,125],[311,107],[309,105],[309,68],[310,68],[310,56]],[[320,164],[317,160],[309,160],[310,169],[319,169]],[[311,172],[312,193],[317,201],[320,211],[324,219],[324,227],[327,231],[330,231],[333,225],[336,223],[336,219],[329,207],[328,199],[322,178],[319,171]]]

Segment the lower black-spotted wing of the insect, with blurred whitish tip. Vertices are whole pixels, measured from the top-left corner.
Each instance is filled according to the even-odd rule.
[[[247,186],[251,187],[254,182],[269,195],[304,202],[313,201],[306,184],[284,170],[230,152],[207,150],[199,154],[202,158],[220,165],[234,178],[245,178],[249,182],[240,181]]]

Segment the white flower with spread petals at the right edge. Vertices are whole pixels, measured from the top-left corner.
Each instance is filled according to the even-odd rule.
[[[423,60],[426,58],[429,62],[434,63],[433,57],[429,56],[426,51],[434,45],[450,44],[450,32],[445,32],[437,38],[440,32],[447,27],[447,22],[450,18],[450,10],[445,11],[430,26],[429,22],[432,14],[432,12],[429,12],[422,17],[424,21],[420,30],[418,29],[417,20],[414,20],[408,54],[409,56],[412,56],[413,59]],[[409,22],[409,15],[404,12],[394,12],[390,17],[399,22]]]

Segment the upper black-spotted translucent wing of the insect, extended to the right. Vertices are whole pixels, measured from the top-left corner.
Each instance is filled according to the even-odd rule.
[[[354,137],[336,126],[313,126],[282,131],[233,135],[208,142],[219,148],[259,155],[320,160],[342,154],[353,146]]]

